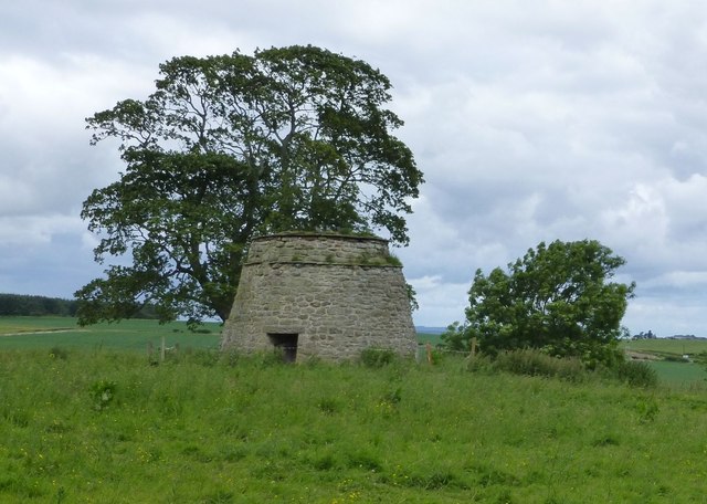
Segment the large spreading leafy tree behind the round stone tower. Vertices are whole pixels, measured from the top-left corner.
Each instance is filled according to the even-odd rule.
[[[407,244],[423,179],[392,135],[402,120],[384,108],[390,87],[318,48],[236,51],[168,61],[147,99],[87,118],[93,144],[120,141],[126,168],[82,218],[101,238],[96,261],[125,258],[76,292],[80,322],[145,303],[162,321],[225,319],[262,233],[381,229]]]

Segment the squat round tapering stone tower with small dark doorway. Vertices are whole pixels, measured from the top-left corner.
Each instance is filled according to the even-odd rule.
[[[305,233],[253,240],[221,348],[276,347],[289,361],[351,359],[369,347],[414,356],[408,287],[388,241]]]

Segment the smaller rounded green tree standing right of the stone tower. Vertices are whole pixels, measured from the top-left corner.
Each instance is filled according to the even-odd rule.
[[[594,240],[542,242],[523,259],[474,275],[466,322],[442,336],[454,349],[538,348],[590,367],[620,358],[621,319],[635,283],[609,282],[625,260]]]

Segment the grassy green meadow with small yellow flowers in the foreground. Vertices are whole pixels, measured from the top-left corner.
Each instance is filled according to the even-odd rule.
[[[0,346],[0,502],[705,502],[698,382],[570,382],[444,355],[293,366],[188,340],[156,361],[108,335]]]

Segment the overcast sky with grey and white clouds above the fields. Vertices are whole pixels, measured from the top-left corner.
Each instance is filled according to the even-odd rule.
[[[24,0],[0,15],[0,292],[102,274],[84,199],[116,180],[84,118],[179,55],[314,44],[392,82],[426,183],[395,253],[418,325],[477,267],[595,239],[637,283],[632,333],[707,336],[707,9],[698,1]]]

